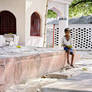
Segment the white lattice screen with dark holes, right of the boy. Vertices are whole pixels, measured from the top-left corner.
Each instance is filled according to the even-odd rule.
[[[74,25],[73,25],[74,26]],[[78,25],[71,27],[71,37],[73,46],[78,50],[92,49],[92,28],[87,25]]]

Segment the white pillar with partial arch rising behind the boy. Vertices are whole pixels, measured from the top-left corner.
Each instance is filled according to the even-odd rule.
[[[52,9],[53,7],[58,10],[59,18],[63,18],[59,20],[59,42],[61,42],[61,38],[64,36],[64,29],[68,27],[69,4],[64,2],[50,2],[48,9]],[[59,47],[61,47],[61,45],[59,45]]]

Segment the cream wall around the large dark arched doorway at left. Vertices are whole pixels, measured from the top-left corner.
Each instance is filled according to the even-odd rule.
[[[20,44],[25,43],[25,0],[0,0],[0,12],[8,10],[12,12],[17,20],[17,35],[20,37]]]

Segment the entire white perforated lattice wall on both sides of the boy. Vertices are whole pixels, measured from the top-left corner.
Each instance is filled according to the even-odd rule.
[[[92,49],[92,25],[69,25],[71,28],[71,38],[73,39],[73,47],[77,50],[91,50]],[[53,46],[53,27],[47,28],[47,45]],[[60,44],[61,35],[59,27],[55,27],[54,46],[58,47]]]

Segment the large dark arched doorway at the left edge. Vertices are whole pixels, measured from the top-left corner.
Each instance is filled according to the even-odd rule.
[[[16,18],[9,11],[0,12],[0,35],[16,34]]]

